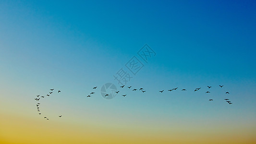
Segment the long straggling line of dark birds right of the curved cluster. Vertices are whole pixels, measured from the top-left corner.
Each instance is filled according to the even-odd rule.
[[[120,86],[120,88],[124,88],[124,86],[125,85],[122,85],[122,86]],[[222,88],[224,85],[219,85],[219,87],[220,88]],[[129,89],[132,87],[132,86],[127,86]],[[211,88],[211,86],[208,86],[207,85],[207,87],[208,87],[208,89],[210,89]],[[97,88],[97,86],[95,86],[95,87],[93,87],[93,89],[96,89]],[[176,87],[176,88],[172,88],[172,89],[169,89],[168,91],[173,91],[173,90],[177,90],[178,89],[178,87]],[[201,87],[199,87],[199,88],[195,88],[195,92],[196,91],[199,91],[201,89]],[[138,89],[133,89],[132,91],[137,91]],[[143,93],[145,93],[146,91],[144,91],[144,89],[143,88],[140,88],[139,89],[139,91],[142,91]],[[160,90],[159,92],[160,93],[163,93],[163,91],[164,90]],[[186,89],[182,89],[182,91],[186,91]],[[115,93],[116,94],[118,94],[120,91],[116,91]],[[207,91],[206,93],[211,93],[210,91]],[[90,93],[90,95],[92,95],[92,94],[95,94],[95,92],[91,92]],[[225,94],[229,94],[229,92],[226,92]],[[91,97],[90,95],[88,95],[87,97]],[[105,96],[109,96],[109,94],[106,94]],[[126,94],[125,95],[122,95],[122,96],[127,96]],[[228,102],[229,104],[232,104],[232,102],[231,101],[229,101],[229,99],[228,98],[225,98],[224,100],[226,100],[226,102]],[[213,99],[209,99],[209,101],[213,101]]]

